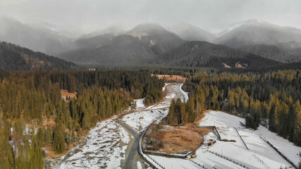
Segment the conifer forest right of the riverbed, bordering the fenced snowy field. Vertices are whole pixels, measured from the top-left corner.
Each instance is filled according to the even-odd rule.
[[[173,101],[167,120],[170,124],[185,124],[193,121],[204,109],[228,111],[242,115],[246,127],[257,130],[259,124],[265,125],[300,146],[300,84],[300,70],[198,73],[185,83],[190,101],[186,104]],[[192,113],[191,108],[197,111]]]

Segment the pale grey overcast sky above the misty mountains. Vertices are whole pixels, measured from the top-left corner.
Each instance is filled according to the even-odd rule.
[[[301,0],[0,0],[0,15],[85,33],[116,23],[181,21],[217,32],[250,18],[301,28]]]

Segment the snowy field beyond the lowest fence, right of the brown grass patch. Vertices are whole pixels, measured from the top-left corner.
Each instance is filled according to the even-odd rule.
[[[271,142],[271,144],[274,144],[290,161],[293,161],[296,165],[299,163],[300,158],[297,154],[301,151],[301,147],[294,146],[293,143],[288,142],[287,139],[278,137],[274,132],[270,132],[263,126],[259,126],[258,130],[250,130],[242,127],[240,122],[245,122],[245,120],[221,111],[210,111],[205,115],[199,125],[216,125],[216,127],[219,127],[218,130],[221,139],[236,140],[236,142],[217,141],[214,146],[209,148],[211,151],[216,151],[220,154],[222,151],[222,154],[226,156],[230,156],[231,158],[235,158],[238,161],[253,165],[257,168],[263,168],[264,165],[259,163],[254,156],[264,161],[270,168],[280,168],[281,166],[290,167],[287,161],[260,138],[260,136],[262,136]],[[247,151],[233,127],[236,127],[250,151]],[[241,156],[241,154],[244,154],[244,156]]]

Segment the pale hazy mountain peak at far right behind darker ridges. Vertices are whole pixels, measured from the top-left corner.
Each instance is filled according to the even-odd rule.
[[[235,48],[246,44],[278,46],[288,42],[301,42],[301,30],[281,27],[261,20],[247,20],[214,42]]]

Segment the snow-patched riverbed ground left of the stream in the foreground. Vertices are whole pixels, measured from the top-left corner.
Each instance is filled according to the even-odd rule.
[[[121,168],[128,132],[113,119],[97,123],[85,137],[85,144],[76,146],[56,168]]]

